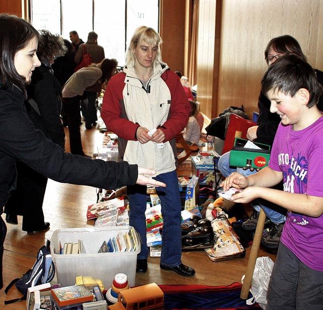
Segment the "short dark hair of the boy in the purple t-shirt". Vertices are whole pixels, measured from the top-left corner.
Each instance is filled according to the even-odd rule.
[[[308,108],[317,104],[323,93],[322,85],[317,81],[314,69],[296,55],[286,55],[277,59],[261,79],[261,91],[282,92],[293,97],[300,88],[306,88],[310,98]]]

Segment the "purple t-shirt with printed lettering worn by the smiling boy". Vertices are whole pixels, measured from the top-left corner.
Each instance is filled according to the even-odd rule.
[[[269,166],[283,172],[285,192],[323,197],[323,116],[299,131],[280,124]],[[309,268],[323,272],[323,215],[288,212],[281,242]]]

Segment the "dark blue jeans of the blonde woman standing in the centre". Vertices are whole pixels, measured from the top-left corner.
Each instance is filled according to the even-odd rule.
[[[163,237],[160,263],[168,267],[176,267],[182,263],[181,235],[181,197],[176,170],[155,176],[153,179],[164,182],[167,187],[156,188],[161,202],[163,215]],[[139,233],[142,245],[138,259],[148,257],[146,239],[145,210],[147,205],[147,189],[142,185],[127,186],[129,198],[129,224]]]

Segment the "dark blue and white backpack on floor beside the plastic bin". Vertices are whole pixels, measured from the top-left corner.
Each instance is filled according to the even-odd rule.
[[[39,249],[33,267],[29,269],[21,278],[11,281],[5,289],[5,293],[7,294],[9,289],[15,284],[18,291],[24,296],[17,299],[6,300],[5,304],[26,299],[29,287],[48,283],[53,279],[55,276],[55,265],[51,259],[49,244],[50,241],[48,240],[46,245],[43,245]]]

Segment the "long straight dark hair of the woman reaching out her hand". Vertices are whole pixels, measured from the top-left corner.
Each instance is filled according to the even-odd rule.
[[[15,67],[16,53],[25,48],[33,38],[39,39],[38,31],[27,21],[15,15],[0,14],[0,87],[15,84],[23,89],[26,78]]]

